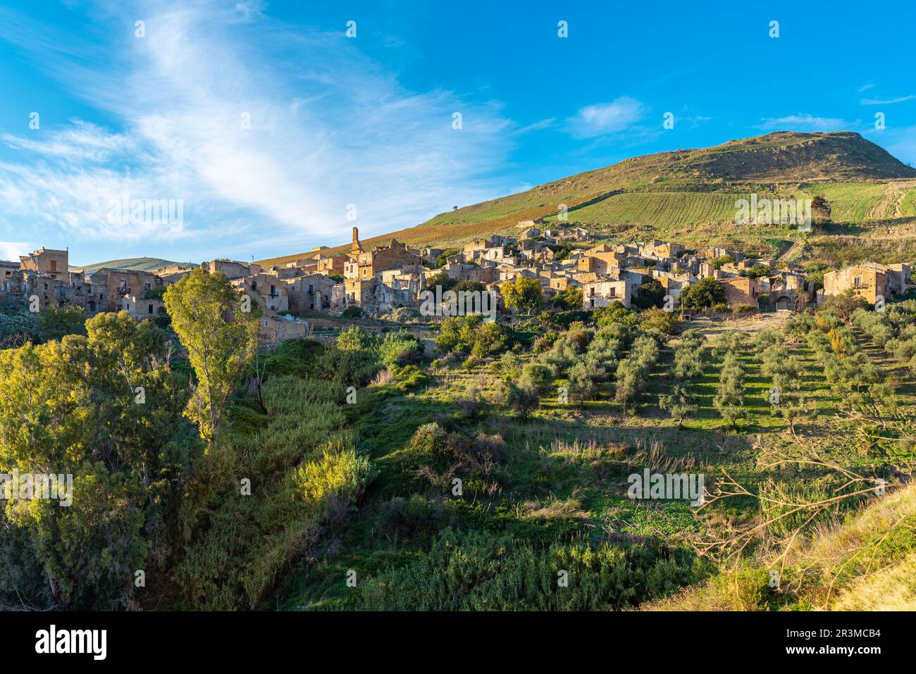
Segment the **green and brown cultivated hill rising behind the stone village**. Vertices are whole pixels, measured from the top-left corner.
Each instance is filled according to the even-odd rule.
[[[736,225],[736,200],[750,192],[774,199],[823,196],[834,223],[916,225],[916,168],[852,132],[775,132],[714,147],[660,152],[554,180],[531,190],[444,212],[416,227],[376,236],[409,245],[460,245],[474,237],[517,232],[519,221],[557,220],[608,239],[671,238],[779,250],[788,228]],[[849,234],[856,234],[850,232]],[[788,241],[787,245],[778,242]],[[322,251],[342,253],[348,245]],[[282,264],[314,253],[262,261]]]

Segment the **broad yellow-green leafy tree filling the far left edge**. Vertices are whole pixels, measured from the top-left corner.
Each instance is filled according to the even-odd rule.
[[[69,498],[4,500],[0,603],[130,605],[147,517],[164,520],[162,504],[180,481],[175,466],[187,465],[190,452],[172,441],[187,398],[161,332],[123,312],[100,314],[86,330],[0,351],[0,473],[72,481]]]

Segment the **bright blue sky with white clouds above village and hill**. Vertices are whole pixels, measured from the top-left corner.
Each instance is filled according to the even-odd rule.
[[[774,130],[916,162],[910,2],[735,5],[6,0],[0,258],[296,253]]]

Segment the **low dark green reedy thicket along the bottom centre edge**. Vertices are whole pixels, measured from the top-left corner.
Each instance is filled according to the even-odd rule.
[[[558,588],[560,571],[568,586]],[[591,543],[549,548],[507,534],[446,529],[429,554],[361,583],[361,611],[622,610],[698,582],[692,552],[660,545]]]

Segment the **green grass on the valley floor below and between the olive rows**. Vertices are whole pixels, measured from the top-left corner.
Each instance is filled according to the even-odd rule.
[[[814,407],[797,424],[800,436],[824,458],[868,470],[878,457],[863,450],[854,429],[842,418],[844,400],[824,379],[807,342],[787,345],[802,364],[799,381]],[[900,364],[887,354],[865,341],[862,346],[879,366],[902,374]],[[529,357],[523,355],[522,361]],[[395,386],[363,389],[358,404],[346,408],[346,415],[359,449],[372,460],[365,496],[349,522],[289,573],[268,604],[285,610],[365,605],[366,597],[347,586],[348,571],[356,572],[359,583],[369,584],[372,589],[366,592],[372,596],[380,596],[382,579],[403,583],[408,592],[413,587],[408,579],[426,572],[422,570],[430,563],[429,555],[444,527],[459,532],[459,537],[468,532],[507,537],[511,541],[507,545],[535,554],[553,545],[586,543],[602,549],[649,542],[689,555],[689,538],[707,533],[724,518],[741,521],[758,514],[757,502],[747,497],[718,502],[704,509],[703,516],[696,516],[685,501],[629,499],[627,475],[652,462],[668,462],[672,471],[703,472],[707,487],[726,471],[752,491],[769,479],[803,485],[819,478],[821,473],[812,469],[758,465],[761,447],[791,450],[796,443],[786,422],[772,413],[765,398],[771,383],[761,374],[758,355],[749,343],[739,351],[746,377],[747,419],[737,429],[721,419],[713,406],[721,358],[708,346],[703,349],[703,375],[690,386],[698,410],[685,428],[679,429],[659,408],[658,397],[674,383],[672,359],[669,344],[661,349],[659,362],[649,374],[636,414],[627,414],[616,404],[614,385],[609,382],[601,386],[595,400],[582,406],[560,405],[551,394],[530,419],[518,419],[498,406],[485,408],[479,418],[463,419],[455,399],[466,386],[477,381],[485,391],[496,390],[498,377],[488,364],[470,371],[454,365],[445,373],[431,374],[428,386],[406,392]],[[562,379],[555,382],[562,383]],[[916,406],[911,381],[902,382],[900,396],[902,405]],[[498,434],[506,442],[506,455],[492,470],[455,473],[463,479],[461,496],[421,475],[424,466],[439,473],[447,464],[410,445],[415,429],[442,418],[453,419],[453,430],[467,437],[476,432]],[[888,460],[907,461],[908,457],[888,449]],[[393,518],[395,509],[410,516]],[[473,549],[485,549],[475,540]],[[436,582],[440,581],[445,579]],[[453,600],[442,595],[441,601]]]

